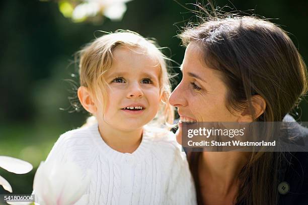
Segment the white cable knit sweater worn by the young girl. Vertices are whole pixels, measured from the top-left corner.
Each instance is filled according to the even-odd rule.
[[[98,125],[64,133],[47,160],[71,160],[91,170],[89,204],[196,204],[184,152],[173,133],[144,126],[132,153],[120,153],[101,138]]]

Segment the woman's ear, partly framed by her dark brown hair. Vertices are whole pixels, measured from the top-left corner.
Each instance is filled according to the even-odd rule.
[[[249,107],[247,106],[246,109],[241,113],[239,122],[253,122],[264,113],[266,109],[266,101],[261,95],[253,95],[251,102],[254,113],[252,114]]]

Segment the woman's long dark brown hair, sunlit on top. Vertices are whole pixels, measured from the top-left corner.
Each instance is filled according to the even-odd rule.
[[[197,42],[208,67],[221,72],[228,92],[230,112],[249,108],[252,96],[266,101],[265,112],[256,119],[279,122],[298,105],[307,91],[305,64],[285,31],[257,17],[208,17],[199,26],[186,28],[179,35],[184,46]],[[198,204],[203,204],[198,164],[201,153],[189,153]],[[282,152],[252,152],[238,176],[241,187],[237,201],[243,204],[277,204],[278,176]]]

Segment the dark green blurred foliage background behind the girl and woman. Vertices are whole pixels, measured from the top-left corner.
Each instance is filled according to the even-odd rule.
[[[178,2],[185,5],[195,1]],[[255,9],[252,14],[273,19],[272,22],[291,33],[294,44],[308,62],[306,0],[217,0],[216,4],[240,11]],[[35,167],[24,175],[0,169],[0,175],[11,183],[14,193],[31,193],[35,169],[45,160],[56,139],[65,131],[81,126],[88,116],[85,112],[68,112],[71,85],[65,79],[78,82],[71,76],[76,73],[72,55],[95,36],[102,35],[96,31],[136,31],[156,38],[162,47],[169,47],[164,52],[176,62],[183,60],[185,49],[175,35],[192,13],[172,0],[133,0],[126,6],[122,21],[105,19],[93,24],[73,23],[62,16],[54,2],[1,1],[0,155],[21,158]],[[194,9],[192,5],[186,6]],[[177,81],[180,78],[181,75]],[[306,101],[302,101],[296,112],[301,121],[308,121]],[[0,193],[8,192],[0,188]]]

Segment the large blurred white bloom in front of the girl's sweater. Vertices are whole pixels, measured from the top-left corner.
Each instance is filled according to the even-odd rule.
[[[82,170],[72,162],[41,162],[37,169],[33,190],[39,204],[87,204],[84,195],[90,183],[89,171],[83,178]]]

